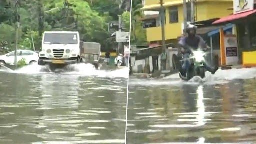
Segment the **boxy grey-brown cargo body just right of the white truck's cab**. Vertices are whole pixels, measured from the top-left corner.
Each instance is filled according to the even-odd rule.
[[[81,58],[85,63],[90,63],[95,66],[96,69],[99,67],[99,59],[101,53],[101,45],[97,42],[80,42],[81,45]]]

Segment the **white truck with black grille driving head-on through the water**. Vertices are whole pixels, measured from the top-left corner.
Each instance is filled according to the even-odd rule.
[[[49,65],[51,71],[79,63],[80,36],[77,31],[45,31],[38,65]]]

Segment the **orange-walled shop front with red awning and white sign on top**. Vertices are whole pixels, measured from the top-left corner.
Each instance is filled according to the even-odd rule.
[[[225,35],[220,29],[221,65],[256,66],[255,0],[234,0],[233,14],[213,22],[216,25],[235,24],[236,32]]]

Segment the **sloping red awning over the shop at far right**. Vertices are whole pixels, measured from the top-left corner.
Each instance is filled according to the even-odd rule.
[[[221,19],[213,22],[212,24],[220,24],[220,23],[231,22],[231,21],[234,21],[234,20],[245,18],[245,17],[250,16],[250,15],[255,14],[255,13],[256,13],[256,10],[252,10],[252,11],[248,11],[248,12],[229,15],[227,17],[221,18]]]

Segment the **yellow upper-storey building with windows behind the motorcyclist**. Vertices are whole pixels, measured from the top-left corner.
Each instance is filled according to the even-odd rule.
[[[183,31],[183,0],[163,0],[165,7],[165,40],[166,43],[176,43],[177,37]],[[195,21],[205,21],[232,14],[233,0],[195,0]],[[150,43],[160,42],[161,23],[160,23],[160,0],[143,0],[143,8],[146,15],[143,20],[143,27],[146,28],[147,41]],[[189,2],[188,2],[189,3]],[[190,5],[187,5],[187,18],[190,17]],[[154,11],[154,12],[147,12]],[[220,12],[221,11],[221,12]]]

